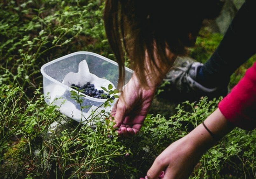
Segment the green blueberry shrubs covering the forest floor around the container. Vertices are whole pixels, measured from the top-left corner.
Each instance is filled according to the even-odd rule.
[[[164,148],[217,107],[220,99],[181,102],[170,118],[148,114],[141,131],[129,139],[117,137],[105,110],[91,114],[94,125],[82,125],[45,103],[40,67],[76,51],[114,60],[103,26],[104,1],[2,0],[0,8],[0,178],[143,177]],[[201,33],[191,49],[198,60],[221,40],[219,34]],[[234,74],[233,84],[251,63]],[[92,87],[74,86],[79,93],[101,93],[104,106],[117,97],[117,91]],[[72,93],[78,102],[79,93]],[[255,139],[255,130],[235,128],[202,156],[190,178],[255,178]]]

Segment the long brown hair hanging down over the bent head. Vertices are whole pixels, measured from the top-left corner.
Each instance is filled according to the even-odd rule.
[[[118,88],[124,84],[125,54],[131,60],[142,85],[145,81],[145,52],[158,70],[154,52],[161,64],[173,63],[166,48],[185,55],[194,45],[204,18],[215,18],[222,9],[219,0],[107,0],[104,25],[108,42],[119,64]]]

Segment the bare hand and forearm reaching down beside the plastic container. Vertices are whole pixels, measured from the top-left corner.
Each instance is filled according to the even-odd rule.
[[[114,122],[116,122],[114,127],[118,127],[117,132],[119,135],[132,136],[141,129],[154,98],[156,88],[162,82],[176,59],[176,55],[171,53],[169,49],[166,49],[165,53],[170,62],[163,64],[157,52],[154,52],[155,63],[153,63],[147,51],[145,51],[145,69],[139,72],[135,70],[132,78],[124,87],[119,100],[112,108],[111,116],[114,117]],[[140,83],[136,72],[144,73],[147,85]]]

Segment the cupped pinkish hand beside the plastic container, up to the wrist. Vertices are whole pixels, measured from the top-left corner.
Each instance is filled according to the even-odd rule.
[[[129,137],[137,134],[148,114],[156,87],[145,89],[135,75],[124,87],[119,100],[111,110],[118,134]]]

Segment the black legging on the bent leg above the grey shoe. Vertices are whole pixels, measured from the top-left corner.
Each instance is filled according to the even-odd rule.
[[[206,86],[227,85],[232,73],[256,53],[256,0],[238,10],[218,48],[202,67]],[[199,75],[200,76],[200,75]]]

